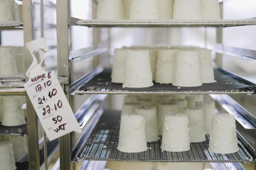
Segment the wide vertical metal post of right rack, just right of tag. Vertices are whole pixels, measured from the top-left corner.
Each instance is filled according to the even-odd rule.
[[[58,77],[67,77],[68,83],[71,83],[70,78],[70,62],[68,60],[68,51],[70,50],[70,28],[68,27],[68,16],[70,14],[70,1],[57,0],[57,62],[58,62]],[[64,85],[64,92],[71,104],[71,96],[69,95],[69,85]],[[60,169],[72,170],[71,162],[71,133],[59,138],[60,145]]]

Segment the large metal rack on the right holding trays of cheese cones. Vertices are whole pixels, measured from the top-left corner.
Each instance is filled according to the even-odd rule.
[[[92,1],[93,3],[97,4],[97,1]],[[26,8],[32,7],[31,0],[24,0],[23,4]],[[222,4],[220,5],[222,9]],[[96,8],[93,8],[93,13],[95,14]],[[27,23],[24,23],[24,42],[29,42],[33,40],[33,23],[32,18],[33,15],[31,11],[24,10],[24,15],[30,16]],[[211,27],[218,27],[217,31],[217,45],[215,51],[219,54],[229,54],[235,57],[254,60],[255,59],[255,51],[254,50],[246,50],[246,49],[238,49],[233,47],[225,47],[222,46],[222,27],[231,27],[231,26],[244,26],[244,25],[256,25],[255,19],[248,19],[248,20],[221,20],[221,21],[98,21],[98,20],[80,20],[77,18],[72,18],[70,16],[70,0],[58,0],[57,1],[57,59],[58,59],[58,78],[61,79],[61,84],[63,86],[63,90],[66,94],[67,99],[71,103],[71,95],[81,95],[84,93],[87,94],[128,94],[128,93],[193,93],[193,94],[214,94],[214,91],[206,91],[202,92],[200,89],[192,91],[178,91],[178,92],[153,92],[153,91],[113,91],[112,89],[108,88],[90,88],[90,89],[80,89],[79,88],[87,83],[89,80],[94,78],[98,75],[102,69],[97,68],[96,70],[88,73],[86,76],[81,78],[80,80],[76,81],[74,84],[71,85],[71,61],[81,61],[87,58],[103,54],[107,51],[107,49],[103,48],[100,42],[100,30],[97,28],[93,28],[94,34],[94,46],[90,48],[84,48],[80,50],[71,50],[71,43],[70,43],[70,27],[71,26],[86,26],[86,27],[171,27],[171,26],[211,26]],[[28,26],[29,25],[29,26]],[[25,56],[28,55],[28,51],[25,49]],[[217,55],[216,64],[221,68],[222,56]],[[29,67],[29,63],[31,63],[31,58],[26,57],[26,70]],[[244,93],[244,94],[255,94],[255,84],[242,80],[242,78],[223,70],[223,73],[226,75],[231,76],[233,79],[239,79],[240,82],[243,82],[250,87],[247,89],[224,89],[222,92],[216,92],[212,96],[217,103],[223,106],[229,113],[236,115],[236,120],[240,124],[244,124],[244,127],[247,129],[255,129],[255,117],[252,116],[248,111],[246,111],[241,106],[234,104],[234,101],[230,100],[228,97],[219,96],[219,94],[237,94],[237,93]],[[115,89],[114,89],[115,90]],[[28,98],[27,98],[28,99]],[[103,109],[100,107],[100,102],[104,99],[90,99],[91,102],[85,102],[85,104],[78,110],[76,113],[77,120],[81,127],[85,126],[85,130],[83,135],[81,136],[80,140],[78,141],[77,145],[74,149],[72,149],[72,135],[67,134],[59,138],[59,145],[60,145],[60,169],[61,170],[71,170],[73,169],[72,161],[76,161],[79,156],[77,152],[84,144],[84,141],[88,139],[91,133],[94,131],[94,127],[96,126],[98,120],[103,114]],[[28,100],[29,101],[29,100]],[[100,101],[100,102],[96,102]],[[30,102],[27,102],[27,107],[29,110],[29,120],[28,122],[31,123],[28,128],[28,133],[32,134],[30,137],[30,147],[34,149],[38,149],[38,144],[35,142],[36,132],[36,116],[33,110],[33,107]],[[31,143],[34,140],[34,143]],[[241,151],[244,151],[245,155],[247,155],[249,162],[255,161],[256,155],[254,149],[249,147],[249,144],[243,140],[242,136],[238,135],[238,140],[241,142]],[[206,143],[207,145],[207,143]],[[201,146],[199,146],[201,147]],[[85,150],[86,151],[86,150]],[[29,155],[30,166],[31,169],[37,169],[39,167],[38,164],[38,151],[35,150],[33,153]],[[184,155],[183,155],[184,156]],[[88,160],[84,158],[83,160]],[[92,159],[96,160],[96,159]],[[102,159],[105,160],[105,159]],[[125,161],[127,159],[123,159]],[[134,160],[133,160],[134,161]],[[136,161],[136,160],[135,160]],[[138,160],[139,161],[139,160]],[[140,160],[141,161],[141,160]],[[145,160],[143,160],[145,161]],[[152,160],[149,160],[152,161]],[[238,159],[233,161],[227,162],[239,162]],[[243,160],[245,161],[245,160]],[[203,160],[198,160],[198,162],[203,162]],[[209,160],[211,162],[211,160]],[[213,161],[214,162],[214,161]],[[226,162],[226,160],[215,160],[215,162]],[[245,161],[247,162],[247,161]],[[85,167],[84,163],[84,167]],[[216,166],[222,166],[216,164]],[[241,164],[239,163],[225,163],[226,167],[236,167],[237,169],[241,169]],[[255,166],[256,169],[256,166]]]

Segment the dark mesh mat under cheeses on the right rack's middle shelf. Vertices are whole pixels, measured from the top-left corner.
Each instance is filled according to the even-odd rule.
[[[254,91],[250,89],[251,85],[244,84],[232,78],[231,76],[225,75],[219,70],[214,70],[214,76],[216,83],[203,84],[200,87],[178,87],[171,84],[160,84],[155,83],[154,86],[148,88],[123,88],[122,84],[111,82],[111,69],[105,69],[100,74],[96,75],[90,81],[85,83],[78,91],[87,91],[92,88],[102,88],[111,90],[121,90],[121,91],[140,91],[140,92],[184,92],[184,91],[202,91],[202,92],[225,92],[229,90],[234,91]],[[246,89],[244,89],[246,88]]]

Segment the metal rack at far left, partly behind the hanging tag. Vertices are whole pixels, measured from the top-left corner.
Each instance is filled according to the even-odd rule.
[[[34,10],[35,4],[41,4],[40,0],[20,0],[23,5],[23,18],[24,23],[16,21],[0,21],[0,31],[2,30],[23,30],[24,44],[33,41],[36,38],[35,31],[41,30],[41,24],[35,23],[35,13],[39,11]],[[45,3],[44,6],[50,8],[56,8],[56,4]],[[56,29],[56,24],[44,24],[44,29]],[[57,45],[50,46],[50,49],[56,49]],[[25,59],[25,72],[28,70],[32,63],[32,57],[27,50],[24,48],[24,59]],[[24,73],[25,76],[25,73]],[[9,82],[25,82],[28,78],[22,77],[1,77],[0,84],[0,95],[26,95],[26,90],[22,85],[19,87],[9,86]],[[38,137],[38,118],[35,114],[34,108],[26,96],[26,110],[27,110],[27,124],[17,127],[5,127],[0,125],[0,135],[27,135],[28,142],[28,154],[21,160],[22,162],[16,163],[17,169],[35,169],[38,170],[44,165],[44,150],[40,150],[43,144],[43,138]],[[24,109],[24,108],[23,108]],[[28,135],[29,134],[29,135]],[[52,141],[51,141],[52,142]],[[57,142],[57,145],[55,145]],[[58,153],[59,145],[58,140],[55,143],[47,143],[48,146],[48,164],[52,161],[53,156]],[[41,158],[41,161],[40,161]],[[58,165],[58,163],[56,164]],[[58,169],[58,168],[57,168]]]

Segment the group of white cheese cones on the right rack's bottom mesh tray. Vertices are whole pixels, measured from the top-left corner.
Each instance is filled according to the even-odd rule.
[[[189,98],[191,100],[195,97]],[[137,100],[140,101],[141,99]],[[124,104],[118,150],[131,153],[145,151],[146,142],[158,141],[158,135],[162,135],[161,149],[171,152],[187,151],[190,143],[203,142],[205,135],[211,133],[210,151],[238,151],[234,116],[215,115],[214,102],[197,102],[197,106],[180,107],[181,103],[178,105],[176,101],[178,100],[159,103],[157,107],[148,102]],[[130,110],[127,109],[128,105]],[[132,110],[132,107],[135,109]],[[223,142],[223,139],[227,140]]]

